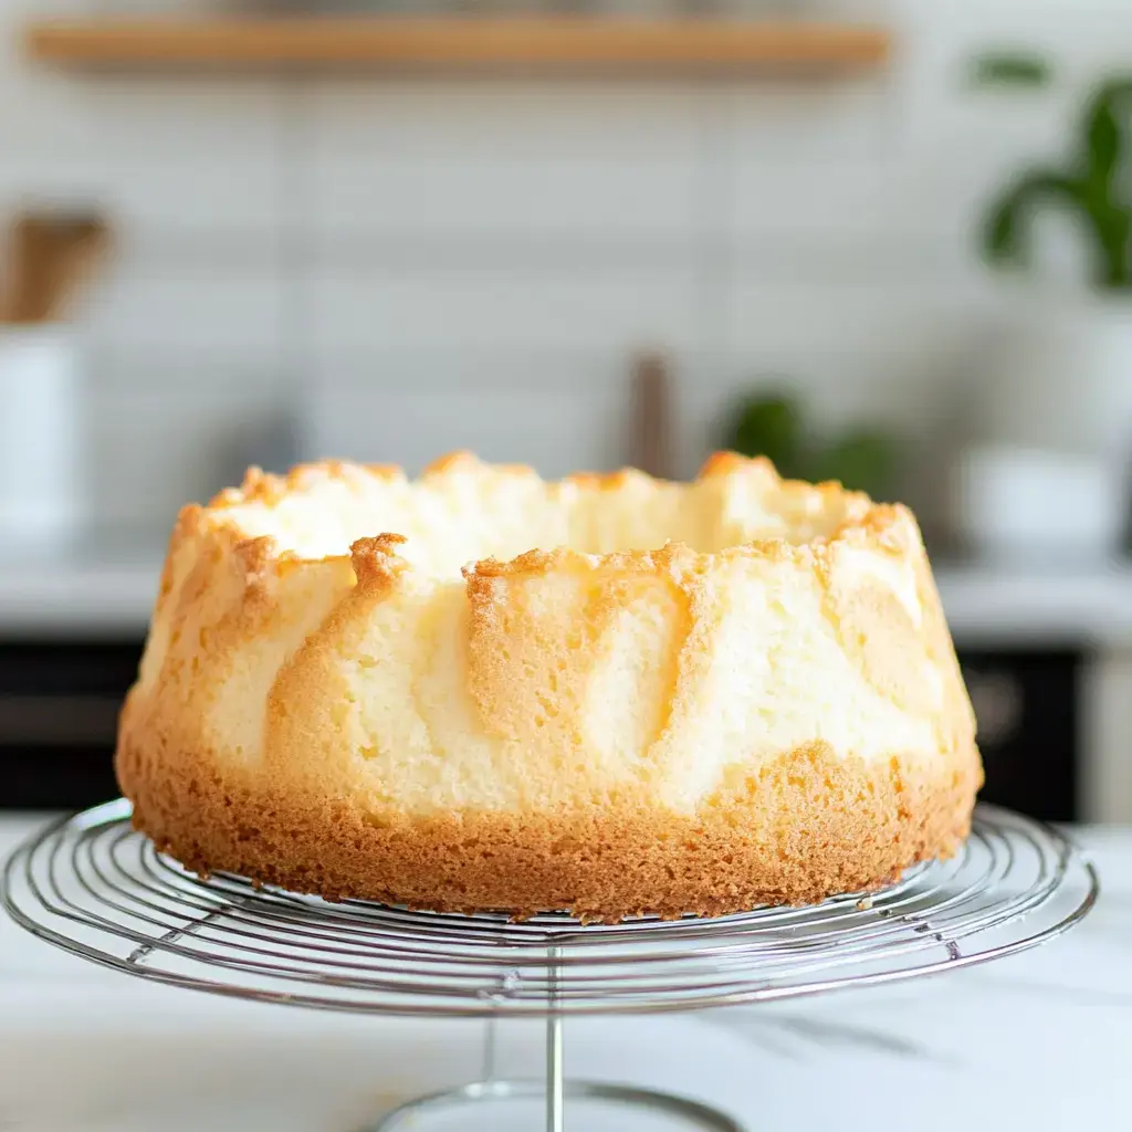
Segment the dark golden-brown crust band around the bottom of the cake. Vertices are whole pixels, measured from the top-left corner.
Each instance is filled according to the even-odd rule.
[[[482,813],[378,823],[343,801],[225,782],[213,761],[163,751],[156,736],[123,744],[117,769],[135,826],[196,872],[332,900],[516,917],[567,909],[590,920],[721,916],[891,883],[953,855],[981,784],[974,749],[934,780],[895,756],[847,764],[814,746],[697,817],[626,805],[569,822]]]

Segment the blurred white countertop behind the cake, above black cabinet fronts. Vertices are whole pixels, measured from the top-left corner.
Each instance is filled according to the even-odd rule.
[[[51,560],[0,558],[0,633],[142,634],[163,548],[127,543]],[[1132,565],[1024,569],[944,563],[936,582],[964,644],[1132,645]]]

